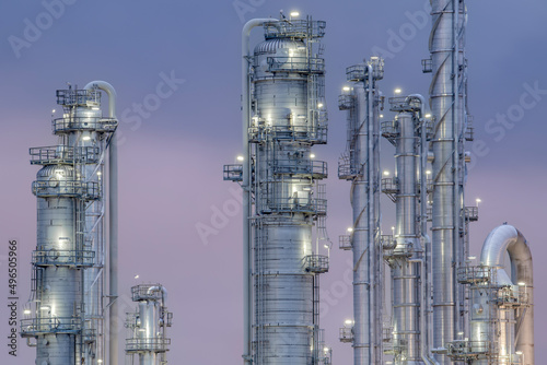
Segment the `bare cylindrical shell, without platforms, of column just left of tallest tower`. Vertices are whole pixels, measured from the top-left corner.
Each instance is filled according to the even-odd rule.
[[[420,268],[422,259],[418,227],[418,141],[411,113],[399,113],[395,119],[398,130],[396,176],[398,192],[395,209],[396,247],[388,257],[392,268],[394,364],[423,364],[420,353]]]

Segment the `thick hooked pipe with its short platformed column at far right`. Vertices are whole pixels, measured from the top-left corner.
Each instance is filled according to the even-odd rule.
[[[496,227],[480,264],[461,270],[458,279],[470,286],[470,338],[451,343],[449,355],[474,365],[533,365],[534,279],[522,233],[508,224]]]

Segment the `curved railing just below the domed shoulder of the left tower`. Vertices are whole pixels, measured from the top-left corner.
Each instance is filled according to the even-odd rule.
[[[37,180],[32,184],[32,191],[38,198],[68,197],[96,200],[101,197],[98,182],[80,180]]]

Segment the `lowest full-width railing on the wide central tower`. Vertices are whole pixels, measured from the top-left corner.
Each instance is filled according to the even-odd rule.
[[[265,198],[260,204],[260,212],[325,215],[327,213],[327,200],[315,198]]]

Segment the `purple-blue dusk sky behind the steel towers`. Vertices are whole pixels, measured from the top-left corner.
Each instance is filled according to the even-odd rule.
[[[336,177],[337,160],[346,145],[346,117],[337,110],[345,68],[371,56],[374,47],[387,49],[393,55],[381,82],[384,94],[389,96],[400,86],[404,93],[427,95],[431,76],[421,73],[420,62],[429,57],[430,23],[420,24],[406,12],[423,13],[429,0],[65,0],[63,8],[60,1],[0,4],[0,297],[8,296],[4,255],[12,237],[20,240],[20,305],[30,292],[36,237],[35,197],[30,187],[37,168],[28,163],[28,148],[56,142],[49,120],[51,109],[58,108],[55,91],[65,89],[66,82],[83,86],[105,80],[118,92],[124,136],[120,293],[129,294],[130,286],[141,281],[161,282],[168,289],[173,364],[240,364],[241,210],[231,192],[237,191],[236,186],[222,181],[222,165],[233,163],[241,152],[242,19],[298,9],[327,21],[329,143],[316,148],[315,154],[329,163],[331,172],[326,181],[328,231],[337,246],[351,216],[349,184]],[[247,4],[246,12],[238,14],[235,4]],[[521,229],[535,257],[535,298],[540,308],[547,301],[547,284],[540,280],[547,267],[539,260],[547,255],[542,228],[547,217],[543,190],[547,185],[547,2],[481,0],[469,1],[468,8],[469,107],[476,148],[466,196],[469,205],[477,197],[482,200],[480,220],[472,227],[473,252],[478,255],[487,234],[503,222]],[[47,9],[56,16],[44,15]],[[31,32],[36,25],[42,27],[39,33]],[[408,32],[403,43],[391,43],[393,34],[401,31]],[[255,31],[254,39],[260,36]],[[12,47],[10,40],[19,43]],[[185,82],[175,83],[171,96],[161,105],[147,104],[141,115],[132,110],[135,103],[154,99],[158,84],[172,73]],[[534,98],[531,87],[545,92]],[[389,113],[385,115],[389,118]],[[505,125],[498,115],[509,115]],[[383,155],[385,167],[393,170],[388,144]],[[383,204],[383,226],[388,231],[393,203],[384,199]],[[203,240],[196,227],[211,226],[217,209],[228,209],[231,216],[213,222],[216,233]],[[350,286],[344,281],[349,258],[349,252],[333,249],[331,270],[322,278],[322,287],[330,295],[323,327],[337,364],[350,364],[352,358],[350,345],[337,339],[338,328],[352,311]],[[133,280],[137,273],[139,281]],[[123,310],[131,309],[126,306],[127,296],[120,303]],[[3,341],[9,331],[7,316],[1,304]],[[536,310],[539,362],[547,358],[546,320],[545,311]],[[16,358],[1,345],[2,364],[34,362],[34,350],[21,339]]]

